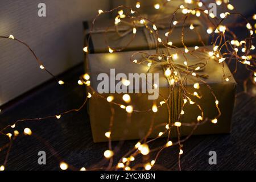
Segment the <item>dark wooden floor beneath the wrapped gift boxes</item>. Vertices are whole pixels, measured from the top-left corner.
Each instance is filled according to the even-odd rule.
[[[60,86],[50,81],[35,92],[15,102],[1,113],[0,128],[20,118],[44,117],[78,108],[85,99],[85,88],[77,84],[83,73],[82,65],[72,69],[61,79],[73,84]],[[184,143],[181,156],[183,170],[255,170],[256,169],[256,99],[246,94],[237,97],[233,115],[232,133],[226,135],[204,135],[191,137]],[[101,162],[108,143],[93,143],[89,117],[84,107],[58,119],[20,123],[19,131],[30,127],[31,137],[20,135],[11,148],[6,170],[59,170],[59,160],[65,160],[75,168],[92,168]],[[0,146],[7,143],[0,137]],[[136,141],[125,142],[119,153],[125,154]],[[165,142],[156,140],[154,146]],[[113,143],[113,146],[117,142]],[[46,151],[47,165],[38,164],[38,152]],[[217,165],[208,164],[208,152],[217,152]],[[162,152],[156,167],[177,170],[177,148]],[[0,151],[0,166],[7,150]],[[55,156],[59,156],[56,158]],[[139,159],[140,160],[140,159]]]

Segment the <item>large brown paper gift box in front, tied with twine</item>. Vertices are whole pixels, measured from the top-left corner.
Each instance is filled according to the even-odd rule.
[[[206,47],[209,50],[212,47]],[[209,59],[208,52],[201,52],[200,49],[194,52],[193,54],[198,54],[204,56],[205,60]],[[143,51],[149,54],[154,54],[155,50]],[[130,61],[131,55],[134,51],[129,52],[114,52],[114,53],[94,53],[88,55],[88,68],[89,74],[91,76],[91,86],[97,92],[97,85],[99,80],[97,76],[100,73],[106,73],[109,75],[110,79],[113,77],[110,76],[110,69],[115,68],[115,74],[117,73],[146,73],[148,70],[147,65],[135,64]],[[173,52],[175,53],[175,52]],[[175,60],[176,63],[183,64],[184,59],[181,59],[182,56],[178,55],[179,58]],[[191,54],[186,54],[188,59],[188,65],[197,63],[195,56]],[[139,60],[139,57],[138,57]],[[159,93],[162,94],[164,98],[168,97],[168,83],[166,78],[163,75],[162,71],[157,71],[159,73]],[[219,101],[219,107],[221,110],[221,117],[218,118],[218,122],[213,124],[211,122],[206,122],[203,125],[197,127],[193,134],[203,135],[203,134],[220,134],[220,133],[229,133],[232,119],[232,111],[234,106],[234,100],[236,96],[236,81],[232,77],[232,74],[229,71],[228,66],[224,63],[218,64],[218,61],[210,59],[207,66],[201,73],[208,74],[208,78],[203,78],[205,82],[212,88],[213,93],[216,95],[217,100]],[[225,75],[230,76],[229,81],[225,81],[223,77]],[[184,75],[181,74],[181,80]],[[187,78],[187,90],[189,92],[195,92],[193,88],[193,83],[197,81],[196,77]],[[200,90],[196,90],[201,96],[201,99],[197,99],[196,102],[204,110],[205,118],[213,119],[218,114],[215,100],[212,94],[209,92],[209,89],[206,85],[200,84]],[[109,95],[114,96],[114,101],[127,105],[123,100],[123,94],[112,93],[112,94],[101,94],[103,97],[108,97]],[[134,106],[135,110],[148,110],[151,109],[154,100],[148,100],[148,94],[138,94],[130,93],[131,104]],[[159,104],[162,101],[162,98],[158,98],[156,103]],[[164,131],[164,126],[168,123],[168,110],[167,107],[159,107],[158,113],[153,113],[152,111],[148,112],[133,112],[130,120],[127,119],[127,113],[125,109],[121,109],[117,105],[112,105],[114,108],[113,115],[113,128],[112,128],[112,140],[129,140],[129,139],[141,139],[146,134],[150,128],[152,119],[154,118],[154,126],[161,125],[155,129],[149,138],[156,137],[160,131]],[[191,123],[195,122],[197,116],[200,115],[199,109],[195,105],[186,104],[184,107],[185,114],[181,117],[181,123]],[[90,115],[90,123],[92,127],[92,135],[94,142],[104,142],[108,138],[105,137],[105,133],[109,131],[109,123],[111,117],[110,103],[104,100],[101,97],[98,97],[97,94],[94,94],[89,100],[88,112]],[[173,121],[172,121],[173,122]],[[181,126],[181,135],[188,135],[192,131],[192,127]],[[164,137],[164,135],[163,135]],[[171,132],[171,137],[177,137],[176,132]]]

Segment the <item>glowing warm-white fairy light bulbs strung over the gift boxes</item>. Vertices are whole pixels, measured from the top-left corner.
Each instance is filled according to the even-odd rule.
[[[170,0],[167,0],[167,1],[169,2]],[[192,0],[190,0],[190,1],[189,1],[189,0],[184,0],[184,2],[185,2],[185,3],[189,3],[189,4],[190,4],[190,3],[193,3]],[[226,0],[224,0],[224,1],[216,0],[216,4],[217,4],[218,6],[220,6],[222,3],[225,3],[225,4],[226,4],[226,7],[227,7],[229,10],[234,10],[234,6],[231,5],[231,4],[229,3],[229,1],[226,1]],[[199,7],[202,7],[202,6],[203,6],[203,3],[200,2],[200,1],[196,1],[196,5],[199,6]],[[140,3],[140,2],[137,2],[136,5],[135,5],[135,7],[136,7],[137,9],[139,9],[139,8],[141,7],[141,3]],[[154,8],[155,8],[156,10],[158,10],[158,9],[160,9],[160,8],[162,8],[162,7],[164,7],[164,5],[162,5],[162,4],[160,5],[159,3],[156,3],[156,4],[154,5]],[[185,8],[185,6],[183,6],[183,5],[180,6],[180,9],[182,9],[181,11],[182,11],[183,14],[189,14],[189,13],[191,13],[192,15],[196,15],[197,17],[199,17],[202,12],[204,12],[205,14],[208,14],[208,13],[209,13],[208,10],[204,10],[204,11],[190,10],[190,9]],[[133,11],[132,9],[130,10],[130,12],[131,12],[131,14],[134,14],[134,13],[135,13],[135,11]],[[100,14],[102,14],[102,13],[106,13],[106,12],[105,12],[105,11],[102,11],[102,10],[98,10],[98,15],[100,15]],[[230,15],[229,12],[221,13],[221,14],[220,14],[220,17],[221,17],[222,19],[224,19],[224,18],[226,18],[228,15]],[[209,16],[210,16],[210,18],[216,18],[216,16],[215,16],[213,13],[210,13]],[[120,23],[122,18],[126,18],[126,15],[124,14],[124,11],[123,11],[123,10],[119,10],[119,11],[118,11],[118,16],[115,17],[115,25],[117,25],[118,23]],[[256,19],[256,15],[253,16],[253,19]],[[145,19],[142,18],[139,22],[140,22],[141,24],[145,24],[145,26],[146,26],[146,20],[145,20]],[[179,22],[178,22],[177,20],[175,20],[174,22],[172,22],[172,24],[173,24],[174,26],[176,26],[178,23],[179,23]],[[256,26],[256,24],[255,24],[254,26]],[[250,35],[253,35],[253,27],[251,26],[250,23],[247,23],[247,24],[246,24],[246,28],[250,31]],[[152,23],[152,29],[155,30],[155,31],[158,30],[158,27],[156,27],[156,24]],[[190,29],[190,30],[194,30],[194,29],[195,29],[194,24],[190,24],[189,29]],[[225,26],[223,26],[223,25],[220,24],[220,25],[218,25],[217,28],[209,27],[209,28],[207,29],[207,33],[208,33],[208,34],[212,34],[212,33],[214,32],[214,33],[224,34],[226,30],[227,30],[227,28],[226,28]],[[137,28],[136,28],[136,27],[133,27],[132,32],[133,32],[133,34],[137,34]],[[150,30],[150,32],[152,33],[151,30]],[[170,31],[166,32],[165,36],[166,36],[167,38],[168,38],[169,35],[170,35]],[[13,35],[10,35],[8,38],[15,40],[15,38],[14,38]],[[159,43],[163,43],[163,40],[162,40],[161,38],[157,37],[157,40],[158,40]],[[245,40],[242,40],[242,41],[240,41],[240,42],[239,42],[238,40],[232,40],[232,41],[230,42],[230,44],[232,44],[232,46],[236,47],[236,48],[234,48],[234,50],[235,50],[236,52],[238,52],[238,47],[240,47],[240,46],[242,46],[242,45],[244,45],[244,47],[241,48],[241,51],[242,51],[242,52],[245,53],[245,52],[247,51],[247,49],[248,49],[248,48],[246,48],[246,42],[245,42]],[[172,46],[172,42],[171,42],[171,41],[168,41],[168,42],[167,42],[167,45],[168,45],[168,46]],[[223,61],[225,61],[226,58],[220,56],[220,54],[219,54],[220,50],[218,50],[219,48],[220,48],[220,46],[213,46],[213,51],[209,51],[209,56],[210,56],[210,57],[216,56],[216,57],[218,58],[218,62],[219,62],[219,63],[222,63]],[[198,46],[195,46],[195,50],[197,50],[197,49],[199,49],[199,47],[198,47]],[[255,47],[254,47],[253,45],[251,45],[251,47],[249,48],[249,50],[251,50],[251,49],[255,49]],[[88,48],[88,46],[84,47],[84,48],[83,48],[83,51],[84,51],[85,53],[89,53],[89,48]],[[109,51],[109,53],[113,53],[114,51],[117,51],[117,50],[108,47],[108,51]],[[189,52],[192,52],[192,51],[189,51],[189,49],[188,49],[186,46],[184,46],[184,52],[185,52],[185,53],[189,53]],[[157,57],[158,57],[159,60],[163,60],[163,56],[162,56],[162,55],[159,55],[159,56],[157,56]],[[172,54],[170,57],[172,57],[172,60],[177,60],[177,59],[178,59],[177,53]],[[251,62],[250,62],[249,60],[252,59],[252,57],[251,57],[250,55],[243,55],[243,56],[241,56],[241,59],[242,59],[241,63],[247,64],[247,65],[250,65],[250,64],[251,64]],[[133,63],[138,63],[138,60],[137,60],[137,59],[133,60]],[[148,65],[148,67],[151,67],[152,62],[149,61],[147,65]],[[184,61],[184,65],[188,67],[188,62],[187,62],[187,61]],[[40,69],[46,69],[43,64],[40,64],[40,65],[39,65],[39,68],[40,68]],[[197,67],[197,68],[195,68],[195,71],[198,71],[199,69],[200,69],[200,67]],[[167,68],[166,71],[164,71],[164,75],[165,75],[166,77],[170,77],[170,76],[172,76],[172,75],[177,76],[177,72],[176,72],[176,71],[173,71],[171,68]],[[192,75],[192,76],[197,76],[195,72],[191,72],[191,75]],[[84,85],[84,84],[85,84],[86,86],[89,87],[89,86],[90,86],[90,80],[89,80],[89,79],[90,79],[90,76],[88,75],[88,73],[86,73],[85,75],[82,76],[82,79],[80,79],[79,81],[77,81],[77,84],[79,84],[79,85]],[[226,80],[226,81],[229,81],[229,78],[226,77],[225,80]],[[256,82],[256,72],[254,72],[254,78],[253,78],[253,80]],[[171,78],[170,84],[171,84],[171,85],[174,85],[176,81],[177,81],[176,78]],[[58,83],[59,83],[60,85],[63,85],[63,84],[64,84],[64,81],[59,80]],[[122,84],[128,86],[128,85],[130,85],[130,81],[129,81],[129,80],[122,80]],[[154,85],[154,87],[157,88],[158,85]],[[199,84],[198,82],[194,83],[194,84],[193,84],[193,88],[195,88],[195,89],[197,89],[197,90],[200,89],[200,84]],[[94,94],[94,92],[88,92],[87,97],[88,97],[88,98],[91,98],[91,97],[92,97],[92,94]],[[193,92],[192,94],[193,94],[193,96],[196,96],[197,98],[200,98],[199,94],[198,94],[196,91]],[[106,101],[108,101],[108,102],[114,103],[114,102],[113,102],[113,101],[114,101],[114,96],[108,96],[108,97],[106,97],[105,99],[106,99]],[[122,100],[123,100],[126,104],[130,104],[130,102],[131,102],[131,97],[129,96],[129,94],[124,94],[124,95],[122,96]],[[188,96],[185,96],[185,98],[183,99],[183,105],[185,105],[187,102],[189,102],[189,104],[191,104],[191,105],[196,104],[196,102],[192,101],[191,98],[189,98]],[[160,104],[160,106],[163,106],[164,104],[168,105],[168,104],[166,103],[166,101],[160,101],[159,104]],[[121,107],[121,109],[126,110],[127,115],[132,114],[133,111],[134,111],[133,105],[127,105],[127,106],[122,105],[122,104],[118,104],[118,105],[119,105],[119,107]],[[219,101],[217,100],[217,98],[216,98],[216,100],[215,100],[215,105],[216,105],[216,107],[218,108]],[[159,106],[154,103],[154,104],[152,105],[152,108],[151,108],[152,112],[154,112],[154,113],[158,112],[158,107],[159,107]],[[1,111],[1,110],[0,110],[0,111]],[[180,111],[180,115],[183,115],[183,114],[185,114],[185,111],[184,111],[184,110],[181,110],[181,111]],[[217,115],[216,118],[212,119],[211,122],[214,123],[214,124],[216,124],[217,121],[218,121],[217,118],[218,118],[219,116],[220,116],[220,114]],[[60,119],[61,114],[55,115],[55,117],[56,117],[57,119]],[[203,113],[202,113],[201,115],[198,115],[198,116],[197,116],[197,122],[201,122],[201,121],[203,121],[203,119],[204,119]],[[174,122],[174,123],[172,123],[172,124],[171,124],[171,123],[170,123],[170,124],[168,123],[168,124],[165,126],[165,128],[166,128],[167,130],[170,130],[172,126],[181,127],[181,126],[182,126],[182,123],[179,122],[179,121],[176,121],[176,122]],[[11,125],[11,127],[14,128],[14,127],[15,127],[15,124],[14,124],[14,125]],[[28,127],[26,127],[26,128],[24,129],[23,133],[24,133],[24,135],[32,135],[32,131],[31,131],[31,129],[29,129]],[[162,137],[163,134],[164,134],[164,131],[161,131],[161,132],[158,133],[158,136],[157,136],[157,137]],[[13,135],[14,135],[14,136],[19,135],[19,131],[15,130],[13,134],[11,134],[11,133],[7,133],[7,134],[6,134],[6,136],[9,137],[10,139],[13,137]],[[112,132],[111,132],[111,131],[107,131],[107,132],[105,133],[105,137],[108,138],[109,140],[111,140],[111,135],[112,135]],[[170,146],[172,146],[172,145],[174,145],[174,143],[172,143],[172,141],[169,140],[169,141],[165,144],[165,147],[170,147]],[[148,146],[147,143],[138,142],[137,144],[135,144],[135,148],[136,148],[137,151],[138,151],[140,154],[142,154],[142,155],[148,155],[148,154],[150,154],[150,147]],[[179,155],[182,155],[182,154],[183,154],[183,150],[182,150],[182,148],[180,147],[180,149],[179,149]],[[106,150],[106,151],[104,152],[104,156],[105,156],[106,159],[111,159],[111,158],[114,156],[114,151],[112,151],[112,150]],[[128,164],[129,162],[133,161],[133,160],[135,160],[134,156],[130,156],[129,158],[122,158],[122,162],[119,162],[119,163],[117,164],[117,168],[123,168],[123,169],[125,169],[126,171],[130,171],[131,168],[130,168],[129,166],[127,166],[127,164]],[[127,164],[126,164],[126,163],[127,163]],[[150,169],[152,168],[152,166],[154,166],[154,164],[155,164],[155,160],[151,160],[151,162],[147,162],[146,164],[144,164],[144,169],[145,169],[145,170],[150,170]],[[69,166],[68,166],[67,163],[65,163],[65,162],[61,162],[61,163],[60,163],[60,169],[62,169],[62,170],[67,170],[68,168],[69,168]],[[0,166],[0,171],[3,171],[4,169],[5,169],[5,166]],[[85,170],[86,170],[85,167],[82,167],[82,168],[80,169],[80,171],[85,171]]]

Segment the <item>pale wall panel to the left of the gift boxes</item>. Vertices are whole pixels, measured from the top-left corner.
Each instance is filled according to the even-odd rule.
[[[38,4],[46,3],[46,18]],[[93,19],[109,0],[1,0],[0,36],[13,34],[28,43],[58,75],[83,60],[82,21]],[[0,39],[0,105],[48,80],[26,47]]]

